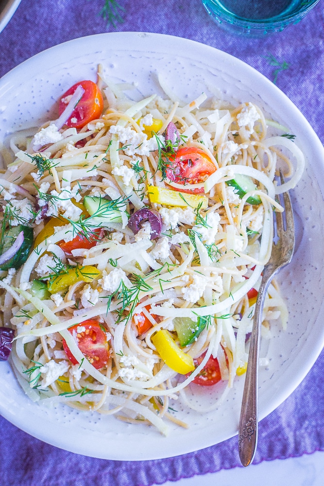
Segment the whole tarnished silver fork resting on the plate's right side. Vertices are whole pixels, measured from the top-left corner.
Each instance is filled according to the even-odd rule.
[[[281,184],[285,180],[280,171]],[[279,202],[278,196],[276,201]],[[265,265],[260,289],[256,298],[256,308],[250,341],[250,352],[246,370],[244,392],[239,417],[239,458],[244,467],[252,463],[257,443],[257,388],[258,388],[258,357],[260,347],[260,330],[262,310],[265,295],[273,276],[285,265],[290,263],[295,246],[295,230],[290,195],[283,194],[286,229],[284,229],[283,213],[276,212],[277,243],[273,243],[271,258]]]

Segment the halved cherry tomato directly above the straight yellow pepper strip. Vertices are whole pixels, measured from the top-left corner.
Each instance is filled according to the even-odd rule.
[[[178,150],[175,156],[169,157],[170,164],[167,167],[167,177],[177,184],[198,184],[204,182],[209,175],[216,171],[216,166],[206,153],[196,147],[183,147]],[[176,189],[176,188],[173,188]],[[180,191],[180,189],[176,189]],[[181,189],[181,192],[199,194],[204,191],[200,189]]]

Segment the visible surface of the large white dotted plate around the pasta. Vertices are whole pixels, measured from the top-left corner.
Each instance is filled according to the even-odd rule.
[[[323,278],[324,149],[290,100],[242,61],[196,42],[158,34],[113,33],[75,39],[37,54],[0,80],[0,142],[10,132],[51,118],[55,102],[82,79],[96,80],[99,63],[116,81],[136,83],[134,96],[163,95],[160,73],[179,98],[192,100],[204,90],[234,104],[251,101],[269,117],[289,127],[307,157],[306,172],[292,191],[298,247],[293,262],[280,273],[290,311],[288,330],[273,329],[265,343],[270,364],[259,376],[259,418],[272,412],[303,380],[324,344]],[[265,350],[263,350],[265,352]],[[171,425],[169,437],[153,427],[129,425],[113,417],[78,413],[65,406],[45,408],[21,391],[9,364],[1,363],[0,411],[39,439],[69,451],[106,459],[140,460],[179,455],[222,442],[237,434],[242,379],[219,408],[203,415],[180,411],[188,430]],[[215,392],[200,390],[203,403]],[[177,407],[178,408],[178,407]]]

